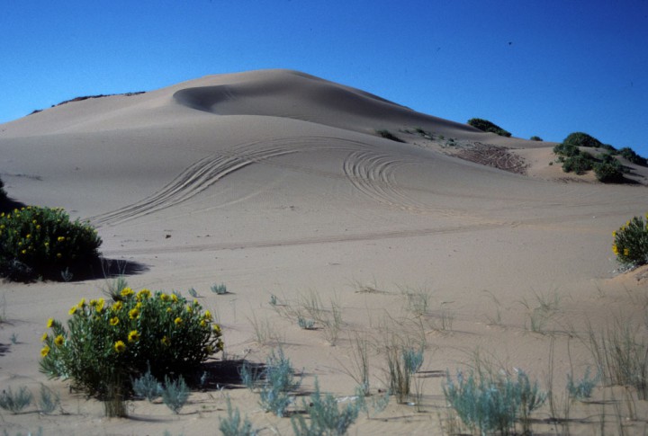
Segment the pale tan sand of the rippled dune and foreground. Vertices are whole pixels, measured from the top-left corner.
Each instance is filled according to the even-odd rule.
[[[446,370],[467,368],[475,355],[496,370],[524,369],[544,389],[553,369],[563,407],[567,373],[594,366],[581,339],[588,325],[598,332],[622,319],[646,334],[648,281],[643,271],[619,274],[610,247],[613,230],[646,212],[648,172],[630,165],[636,183],[625,185],[567,176],[549,165],[553,146],[266,70],[68,102],[0,125],[0,176],[15,200],[90,219],[103,255],[135,270],[133,289],[196,289],[223,326],[228,360],[262,362],[283,347],[303,369],[301,394],[317,377],[349,401],[360,337],[371,343],[376,398],[392,335],[424,341],[419,400],[392,398],[350,434],[447,434]],[[211,292],[221,282],[229,294]],[[0,386],[38,396],[45,384],[62,402],[51,415],[33,405],[0,411],[0,428],[213,434],[230,396],[260,434],[293,434],[290,419],[266,414],[257,394],[220,378],[221,355],[209,388],[179,415],[159,400],[134,401],[130,418],[107,419],[101,403],[40,374],[47,319],[67,320],[69,307],[102,297],[105,286],[0,283]],[[312,296],[325,316],[331,301],[341,307],[337,330],[297,324],[295,310]],[[534,317],[543,305],[551,310]],[[621,425],[648,431],[648,406],[631,391],[598,387],[594,400],[572,403],[572,434],[600,434],[601,421],[607,434]],[[563,432],[551,415],[548,405],[536,412],[537,434]]]

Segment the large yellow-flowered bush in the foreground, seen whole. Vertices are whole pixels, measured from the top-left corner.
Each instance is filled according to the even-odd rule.
[[[49,318],[40,371],[72,380],[90,395],[110,396],[111,384],[130,392],[130,378],[148,367],[157,378],[187,374],[222,351],[220,325],[197,302],[148,289],[123,289],[118,301],[82,299],[69,310],[67,328]],[[187,310],[191,307],[191,311]]]

